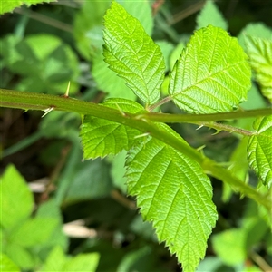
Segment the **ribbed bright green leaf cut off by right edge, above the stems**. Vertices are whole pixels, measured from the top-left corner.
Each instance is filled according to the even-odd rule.
[[[249,62],[256,73],[261,92],[272,102],[272,39],[270,41],[247,36]]]

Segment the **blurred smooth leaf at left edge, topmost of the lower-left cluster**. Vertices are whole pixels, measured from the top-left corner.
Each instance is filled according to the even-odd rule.
[[[33,195],[13,165],[5,169],[1,178],[0,196],[0,222],[3,228],[13,228],[30,216],[34,206]]]

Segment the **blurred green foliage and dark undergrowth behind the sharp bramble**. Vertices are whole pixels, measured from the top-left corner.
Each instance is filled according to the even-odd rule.
[[[205,4],[200,0],[120,2],[160,44],[166,73],[189,36],[207,20],[238,36],[241,45],[246,27],[250,33],[272,37],[269,0],[216,1],[218,10],[215,5],[207,7],[209,18],[199,15]],[[70,81],[70,95],[77,99],[135,100],[103,62],[102,18],[110,3],[60,0],[1,15],[1,88],[62,95]],[[166,78],[162,94],[167,84]],[[248,98],[242,104],[244,109],[267,106],[256,83]],[[171,103],[162,110],[180,111]],[[5,185],[2,182],[2,194],[9,205],[3,210],[11,218],[1,225],[3,263],[14,266],[12,271],[19,267],[24,271],[180,271],[176,258],[158,244],[151,224],[142,221],[135,199],[126,194],[125,152],[83,161],[78,137],[81,116],[66,112],[42,115],[12,109],[0,112],[0,170],[5,171],[2,181],[7,180]],[[247,129],[252,124],[252,120],[230,122]],[[256,176],[251,171],[248,174],[248,162],[241,160],[246,158],[246,140],[227,132],[197,131],[189,124],[172,127],[190,145],[205,145],[210,158],[225,164],[231,161],[240,179],[257,184]],[[7,167],[10,164],[15,168]],[[219,180],[211,181],[219,221],[198,271],[268,271],[272,239],[261,210],[232,194]],[[15,197],[22,191],[26,197]]]

